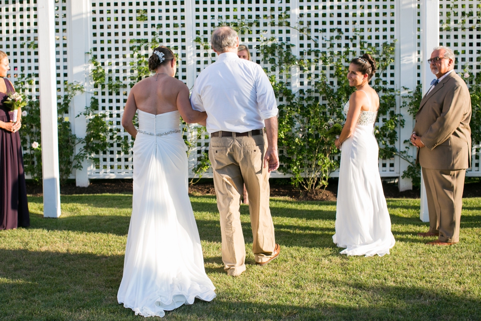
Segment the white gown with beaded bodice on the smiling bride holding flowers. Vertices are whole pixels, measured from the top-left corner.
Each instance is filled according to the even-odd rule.
[[[344,107],[346,115],[348,109],[349,102]],[[379,175],[376,114],[361,111],[354,133],[342,144],[336,234],[332,239],[346,248],[341,254],[348,256],[383,256],[395,243]]]

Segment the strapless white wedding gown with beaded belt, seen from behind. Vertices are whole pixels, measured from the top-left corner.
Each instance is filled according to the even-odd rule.
[[[215,297],[188,197],[179,118],[177,110],[138,110],[133,208],[117,299],[144,317]]]

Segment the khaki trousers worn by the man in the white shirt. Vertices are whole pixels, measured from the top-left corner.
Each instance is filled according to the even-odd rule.
[[[211,137],[209,159],[214,172],[222,234],[222,261],[229,275],[245,270],[245,243],[240,222],[243,184],[249,194],[249,212],[256,262],[272,257],[274,224],[269,209],[269,172],[263,160],[267,135]]]

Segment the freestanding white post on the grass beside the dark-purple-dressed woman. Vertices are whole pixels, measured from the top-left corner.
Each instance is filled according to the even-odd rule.
[[[60,216],[57,95],[55,92],[55,3],[38,1],[38,57],[44,217]]]

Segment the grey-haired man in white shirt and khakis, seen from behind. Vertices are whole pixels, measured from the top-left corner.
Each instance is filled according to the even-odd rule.
[[[244,183],[256,264],[265,265],[280,252],[269,209],[269,173],[279,167],[278,109],[264,70],[237,56],[237,32],[220,27],[211,42],[218,59],[195,80],[190,102],[208,115],[205,125],[211,134],[209,159],[220,213],[222,261],[227,274],[237,276],[245,271],[239,212]]]

